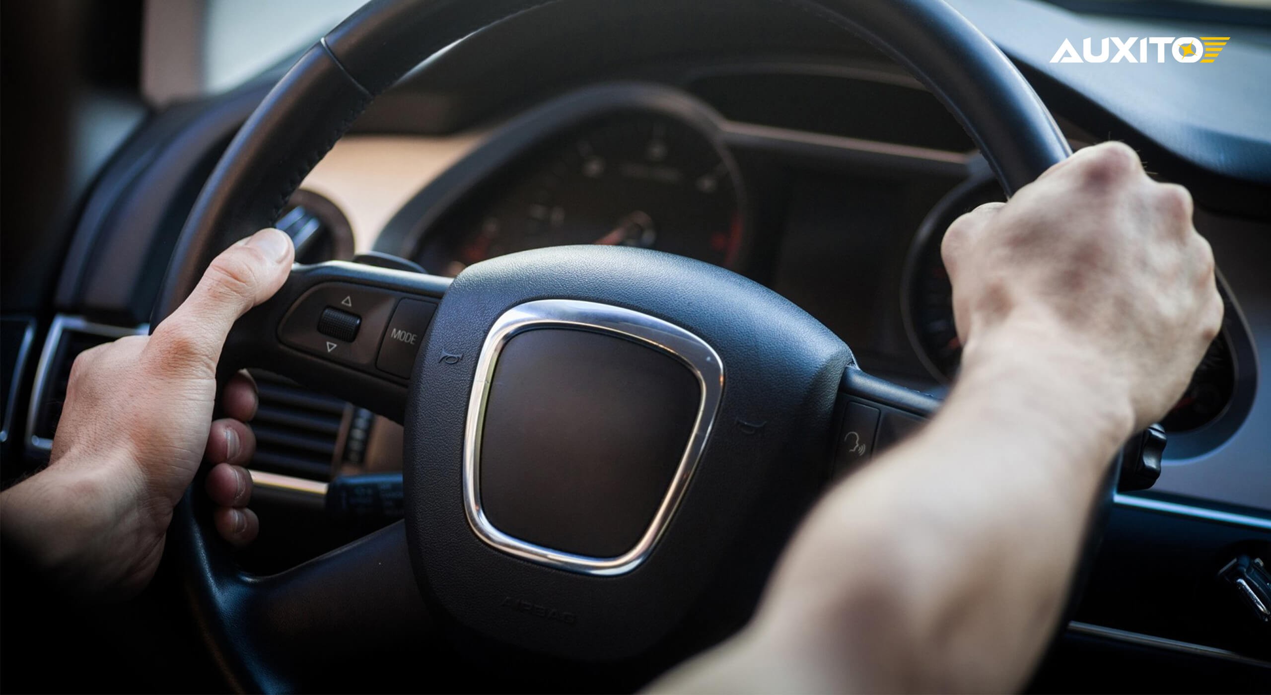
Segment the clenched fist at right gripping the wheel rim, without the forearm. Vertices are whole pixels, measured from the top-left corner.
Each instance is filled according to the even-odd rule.
[[[963,215],[942,252],[963,370],[1028,349],[1082,356],[1085,376],[1126,399],[1134,429],[1178,400],[1223,323],[1191,194],[1153,182],[1120,142]]]

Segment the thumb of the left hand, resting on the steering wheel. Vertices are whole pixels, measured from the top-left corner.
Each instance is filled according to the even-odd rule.
[[[294,255],[291,238],[276,229],[262,229],[225,249],[189,297],[155,328],[151,342],[172,362],[215,372],[234,321],[282,287]]]

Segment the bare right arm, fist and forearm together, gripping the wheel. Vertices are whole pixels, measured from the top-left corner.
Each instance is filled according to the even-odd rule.
[[[1005,691],[1054,635],[1110,461],[1218,333],[1188,193],[1088,147],[944,238],[962,371],[916,436],[812,509],[685,691]]]

